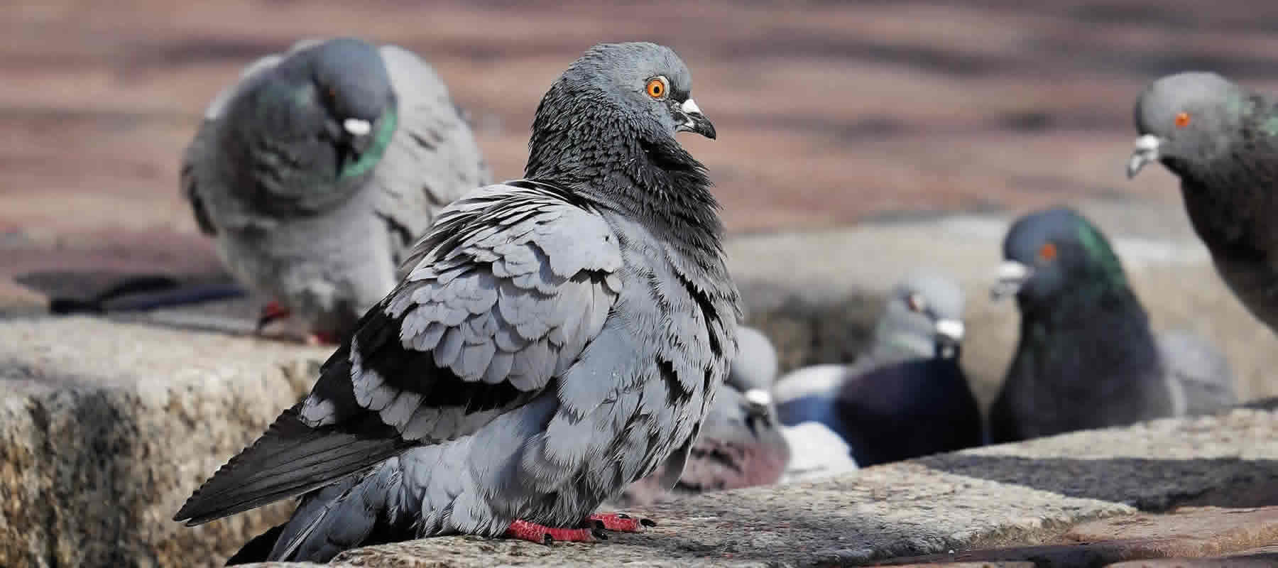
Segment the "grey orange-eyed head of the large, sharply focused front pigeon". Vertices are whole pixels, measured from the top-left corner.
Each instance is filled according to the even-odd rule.
[[[525,175],[593,177],[607,157],[593,152],[594,146],[604,145],[631,154],[656,151],[661,164],[691,160],[662,159],[679,154],[677,132],[716,137],[691,91],[693,74],[670,47],[647,42],[590,47],[538,105]]]

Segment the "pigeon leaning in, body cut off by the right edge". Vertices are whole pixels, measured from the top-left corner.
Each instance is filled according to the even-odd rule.
[[[1243,306],[1278,331],[1278,104],[1215,73],[1154,81],[1136,100],[1134,178],[1160,161],[1181,178],[1195,233]]]

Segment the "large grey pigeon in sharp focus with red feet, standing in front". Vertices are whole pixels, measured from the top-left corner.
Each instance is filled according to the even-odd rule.
[[[537,107],[525,178],[445,207],[311,394],[175,519],[302,495],[266,556],[309,562],[652,525],[596,509],[658,467],[675,485],[741,320],[709,178],[675,138],[716,137],[691,87],[668,47],[587,50]]]

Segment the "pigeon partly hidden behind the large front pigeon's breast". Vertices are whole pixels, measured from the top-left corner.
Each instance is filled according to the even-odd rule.
[[[772,406],[777,354],[772,342],[753,327],[737,327],[737,351],[727,388],[714,395],[714,406],[702,422],[682,476],[674,487],[663,485],[672,464],[658,468],[630,487],[622,505],[651,504],[684,494],[772,485],[790,461],[790,445]]]

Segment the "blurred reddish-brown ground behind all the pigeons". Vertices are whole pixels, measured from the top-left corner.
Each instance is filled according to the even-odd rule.
[[[1123,177],[1135,96],[1195,68],[1278,87],[1278,4],[1241,0],[42,1],[0,18],[0,308],[29,296],[22,274],[220,270],[179,155],[244,64],[305,36],[420,54],[497,179],[521,174],[532,113],[583,50],[670,45],[720,132],[681,141],[736,234],[1080,201],[1162,203],[1141,223],[1183,233],[1172,175]]]

